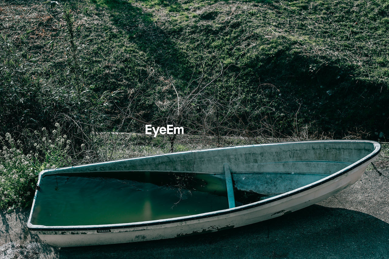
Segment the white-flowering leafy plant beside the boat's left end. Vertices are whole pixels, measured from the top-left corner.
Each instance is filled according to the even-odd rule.
[[[37,176],[44,168],[70,165],[70,141],[56,129],[35,131],[37,143],[34,151],[26,154],[20,140],[14,140],[10,133],[0,137],[0,208],[12,211],[16,207],[31,205],[35,193]]]

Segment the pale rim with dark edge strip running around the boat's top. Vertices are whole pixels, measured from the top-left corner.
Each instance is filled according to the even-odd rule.
[[[363,165],[366,162],[369,162],[370,160],[374,160],[381,151],[381,145],[373,140],[308,140],[308,141],[291,141],[291,142],[277,142],[277,143],[268,143],[268,144],[254,144],[254,145],[240,145],[240,146],[231,146],[231,147],[219,147],[219,148],[209,148],[209,149],[199,149],[199,150],[192,150],[192,151],[181,151],[181,152],[172,152],[167,154],[158,154],[158,155],[151,155],[151,156],[141,156],[141,157],[135,157],[135,158],[128,158],[128,159],[120,159],[120,160],[113,160],[113,161],[105,161],[101,163],[92,163],[92,164],[86,164],[86,165],[79,165],[79,166],[67,166],[67,167],[61,167],[56,169],[46,169],[39,173],[39,179],[37,182],[37,186],[40,184],[40,180],[44,177],[44,175],[49,175],[51,173],[54,174],[54,172],[65,169],[65,168],[77,168],[77,167],[84,167],[84,166],[90,166],[90,165],[98,165],[98,164],[105,164],[105,163],[112,163],[112,162],[119,162],[119,161],[128,161],[132,159],[138,159],[138,158],[146,158],[146,157],[155,157],[155,156],[165,156],[168,154],[178,154],[178,153],[190,153],[190,152],[201,152],[201,151],[210,151],[210,150],[221,150],[221,149],[232,149],[237,147],[257,147],[257,146],[266,146],[266,145],[280,145],[280,144],[297,144],[297,143],[324,143],[324,142],[365,142],[365,143],[371,143],[373,144],[374,150],[370,152],[367,156],[359,159],[358,161],[352,163],[351,165],[343,168],[342,170],[339,170],[331,175],[328,175],[327,177],[324,177],[316,182],[312,182],[310,184],[307,184],[305,186],[302,186],[300,188],[294,189],[292,191],[279,194],[277,196],[273,196],[270,198],[267,198],[265,200],[256,201],[254,203],[242,205],[239,207],[234,208],[228,208],[225,210],[217,210],[212,212],[206,212],[203,214],[195,214],[195,215],[187,215],[183,217],[176,217],[176,218],[168,218],[168,219],[158,219],[154,221],[142,221],[142,222],[129,222],[129,223],[119,223],[119,224],[102,224],[102,225],[81,225],[81,226],[44,226],[44,225],[35,225],[31,223],[33,208],[35,208],[35,199],[37,198],[38,190],[35,191],[32,209],[30,212],[30,217],[28,218],[27,222],[27,228],[30,231],[89,231],[89,230],[104,230],[104,229],[125,229],[125,228],[138,228],[138,227],[148,227],[148,226],[157,226],[162,224],[172,224],[177,222],[184,222],[184,221],[193,221],[198,219],[205,219],[209,217],[216,217],[219,215],[226,215],[226,214],[232,214],[234,212],[240,212],[244,210],[248,210],[251,208],[260,207],[275,201],[279,201],[291,196],[294,196],[296,194],[302,193],[304,191],[307,191],[309,189],[312,189],[314,187],[320,186],[326,182],[329,182],[331,180],[336,179],[337,177],[340,177],[355,168]],[[370,163],[370,162],[369,162]],[[103,172],[103,171],[101,171]],[[118,171],[121,172],[121,171]],[[50,235],[50,233],[45,233],[46,235]]]

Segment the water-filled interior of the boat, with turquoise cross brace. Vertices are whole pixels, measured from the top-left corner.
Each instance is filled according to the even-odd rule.
[[[144,222],[238,207],[321,180],[374,149],[371,142],[291,142],[49,170],[40,178],[32,223]]]

